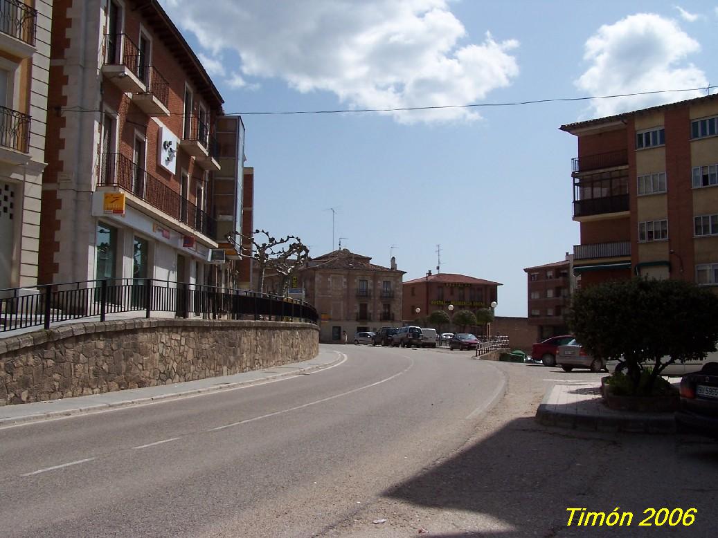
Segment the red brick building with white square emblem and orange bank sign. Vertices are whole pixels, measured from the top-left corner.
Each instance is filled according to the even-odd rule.
[[[223,100],[200,60],[155,0],[54,9],[42,281],[220,283]]]

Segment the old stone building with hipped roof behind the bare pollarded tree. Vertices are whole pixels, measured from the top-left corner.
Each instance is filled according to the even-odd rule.
[[[371,258],[344,248],[312,258],[293,278],[291,287],[320,314],[320,341],[349,341],[357,331],[401,326],[401,280],[404,271],[371,263]],[[266,291],[279,292],[279,278],[266,276]]]

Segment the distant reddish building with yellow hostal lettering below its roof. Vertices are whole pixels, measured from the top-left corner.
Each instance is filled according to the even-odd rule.
[[[432,275],[429,271],[425,277],[409,280],[402,285],[404,288],[402,319],[405,323],[419,323],[419,320],[423,320],[435,310],[446,311],[449,317],[460,310],[476,313],[481,308],[490,308],[493,302],[498,303],[500,285],[498,282],[467,275],[454,273]]]

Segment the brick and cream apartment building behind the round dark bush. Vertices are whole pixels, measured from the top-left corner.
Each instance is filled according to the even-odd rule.
[[[581,285],[648,275],[718,291],[718,95],[561,130],[578,138]]]

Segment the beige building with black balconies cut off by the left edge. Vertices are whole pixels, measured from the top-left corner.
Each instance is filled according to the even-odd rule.
[[[0,0],[0,290],[37,284],[52,2]]]

